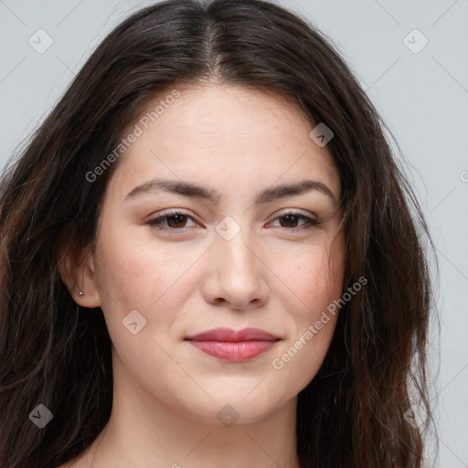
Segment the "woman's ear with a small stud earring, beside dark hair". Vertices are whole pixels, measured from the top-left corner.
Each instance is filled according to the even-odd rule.
[[[62,282],[73,300],[83,307],[99,307],[101,295],[94,274],[94,254],[90,247],[77,250],[69,247],[58,261]],[[82,292],[83,295],[79,295]]]

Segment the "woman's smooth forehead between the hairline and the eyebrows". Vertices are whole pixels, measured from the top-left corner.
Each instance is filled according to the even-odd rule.
[[[171,90],[160,93],[133,122],[142,133],[112,177],[121,191],[156,176],[236,193],[311,176],[339,197],[331,154],[311,139],[314,124],[293,102],[267,90],[213,83],[177,90],[176,99],[165,99]]]

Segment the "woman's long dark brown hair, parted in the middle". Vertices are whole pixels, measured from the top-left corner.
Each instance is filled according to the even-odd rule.
[[[427,226],[387,127],[332,41],[261,0],[170,0],[136,12],[103,40],[5,168],[1,466],[56,467],[88,447],[109,420],[110,336],[100,308],[74,302],[58,261],[66,249],[93,243],[120,159],[93,182],[86,175],[156,94],[208,78],[279,92],[297,103],[311,130],[325,122],[335,133],[327,148],[344,194],[344,291],[362,276],[367,285],[341,310],[323,366],[298,396],[302,466],[421,467],[423,432],[432,421]],[[414,402],[428,415],[420,428],[404,417]],[[41,430],[28,419],[39,403],[53,413]]]

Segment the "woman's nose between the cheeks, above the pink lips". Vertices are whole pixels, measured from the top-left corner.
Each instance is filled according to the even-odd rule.
[[[233,239],[215,233],[208,250],[207,276],[203,295],[207,303],[236,310],[255,308],[267,303],[271,276],[261,242],[242,228]]]

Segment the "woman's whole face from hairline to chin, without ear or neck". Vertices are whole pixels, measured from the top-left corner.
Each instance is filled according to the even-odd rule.
[[[223,408],[260,420],[314,378],[334,333],[339,176],[314,126],[281,96],[216,84],[179,91],[148,106],[165,101],[154,122],[134,122],[142,132],[131,127],[101,210],[92,269],[114,385],[204,420]],[[273,341],[187,339],[220,327]]]

